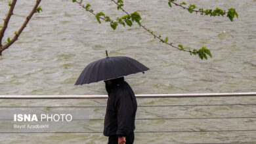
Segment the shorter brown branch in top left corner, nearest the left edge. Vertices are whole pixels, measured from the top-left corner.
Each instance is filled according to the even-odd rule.
[[[9,4],[9,5],[10,5],[9,12],[8,12],[8,14],[7,14],[6,18],[5,18],[5,21],[3,23],[3,27],[2,27],[2,29],[0,31],[0,47],[2,46],[2,39],[3,39],[3,35],[5,35],[5,29],[7,29],[9,20],[10,20],[12,14],[13,14],[13,9],[14,9],[14,7],[16,5],[16,0],[12,0],[12,3]]]

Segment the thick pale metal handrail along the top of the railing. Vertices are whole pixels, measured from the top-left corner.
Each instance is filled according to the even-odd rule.
[[[211,93],[211,94],[137,94],[136,98],[202,98],[202,97],[234,97],[256,96],[256,92]],[[106,99],[107,95],[83,96],[0,96],[0,99]]]

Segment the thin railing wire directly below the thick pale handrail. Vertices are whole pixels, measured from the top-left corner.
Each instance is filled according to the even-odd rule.
[[[138,107],[205,107],[205,106],[235,106],[235,105],[256,105],[256,103],[236,103],[236,104],[217,104],[217,105],[138,105]],[[0,108],[99,108],[106,106],[3,106]]]

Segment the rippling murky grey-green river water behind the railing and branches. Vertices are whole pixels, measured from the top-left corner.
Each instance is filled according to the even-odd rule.
[[[255,92],[256,88],[256,1],[192,0],[198,7],[236,8],[239,18],[190,14],[179,7],[169,8],[167,1],[125,1],[128,12],[137,10],[142,24],[175,45],[201,48],[213,54],[200,60],[159,43],[135,24],[118,26],[98,24],[72,1],[43,0],[43,12],[35,14],[18,41],[0,57],[0,95],[86,95],[106,94],[103,82],[74,86],[83,68],[90,62],[110,56],[129,56],[150,71],[129,75],[126,81],[135,94],[181,94],[218,92]],[[18,1],[4,37],[12,37],[24,22],[35,1]],[[123,16],[111,1],[85,1],[95,12],[111,18]],[[0,18],[8,12],[8,1],[0,0]],[[2,22],[1,22],[2,23]],[[190,103],[256,103],[255,98],[138,99],[140,105],[180,105]],[[1,106],[74,106],[105,105],[106,100],[0,100]],[[246,110],[246,111],[245,111]],[[103,118],[105,109],[91,109],[90,118]],[[221,117],[255,115],[255,107],[161,107],[138,110],[138,117]],[[159,114],[159,111],[167,111]],[[249,111],[249,112],[248,112]],[[217,115],[217,116],[216,116]],[[253,124],[254,122],[254,124]],[[101,122],[91,122],[91,129],[102,131]],[[218,125],[219,124],[219,125]],[[229,124],[229,125],[228,125]],[[149,126],[150,125],[150,126]],[[228,127],[225,127],[227,126]],[[168,126],[170,128],[168,128]],[[222,126],[222,127],[221,127]],[[138,131],[219,130],[255,128],[254,119],[230,120],[142,120]],[[234,127],[234,128],[233,128]],[[242,136],[241,136],[242,135]],[[6,137],[9,137],[6,139]],[[246,139],[246,141],[245,141]],[[1,134],[1,143],[106,143],[101,134]],[[5,142],[3,142],[5,141]],[[256,141],[255,132],[232,133],[161,133],[137,134],[135,143],[234,143]],[[256,142],[255,142],[256,143]]]

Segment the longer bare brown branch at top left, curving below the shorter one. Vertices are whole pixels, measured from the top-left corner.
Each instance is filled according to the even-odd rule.
[[[13,0],[14,1],[14,0]],[[26,20],[24,21],[24,23],[22,24],[22,26],[20,27],[20,29],[18,29],[18,31],[15,33],[14,37],[12,37],[11,41],[3,46],[0,46],[0,56],[2,55],[3,50],[9,48],[9,46],[11,46],[15,41],[17,41],[18,37],[20,36],[20,33],[22,33],[23,29],[26,27],[26,25],[28,24],[28,22],[30,21],[30,19],[32,18],[33,14],[36,12],[37,7],[39,5],[39,3],[41,2],[41,0],[37,0],[35,2],[35,5],[33,6],[32,11],[30,12],[30,14],[26,17]]]

